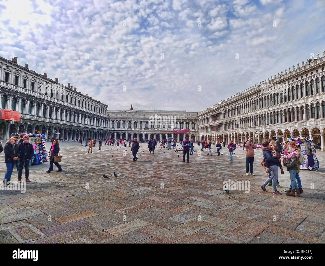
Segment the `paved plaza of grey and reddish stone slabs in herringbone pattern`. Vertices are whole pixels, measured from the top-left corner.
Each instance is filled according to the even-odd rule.
[[[182,163],[181,152],[157,146],[150,154],[147,146],[140,143],[133,162],[129,145],[99,151],[97,144],[87,153],[80,143],[60,143],[63,171],[33,165],[26,193],[0,191],[0,243],[325,243],[324,152],[317,152],[320,171],[301,170],[304,192],[292,197],[284,194],[289,171],[279,172],[282,196],[259,188],[266,180],[261,150],[256,175],[246,176],[242,148],[232,163],[216,147],[213,156],[195,152]],[[0,160],[3,178],[3,153]],[[17,175],[14,169],[11,181]],[[249,193],[227,194],[229,179],[249,181]]]

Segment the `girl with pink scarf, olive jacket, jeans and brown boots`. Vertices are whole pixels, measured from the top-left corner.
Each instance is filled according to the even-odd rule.
[[[288,147],[289,154],[285,156],[287,158],[287,171],[290,173],[290,180],[291,180],[291,189],[290,192],[286,192],[285,194],[288,196],[296,196],[295,192],[297,193],[297,196],[300,196],[300,192],[298,189],[298,185],[296,185],[296,170],[298,170],[297,162],[299,160],[299,155],[297,151],[295,150],[294,145],[289,145]]]

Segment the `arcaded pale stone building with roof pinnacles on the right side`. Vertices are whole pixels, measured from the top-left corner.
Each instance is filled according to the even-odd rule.
[[[325,150],[325,51],[198,114],[199,140],[313,137]]]

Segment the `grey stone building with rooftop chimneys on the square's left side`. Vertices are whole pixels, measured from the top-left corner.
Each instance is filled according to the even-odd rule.
[[[45,134],[45,138],[108,137],[108,106],[73,88],[0,57],[2,109],[21,112],[20,121],[0,120],[0,139],[11,133]]]

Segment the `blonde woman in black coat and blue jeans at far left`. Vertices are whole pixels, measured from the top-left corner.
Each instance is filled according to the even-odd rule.
[[[5,164],[7,167],[5,180],[3,181],[4,184],[10,182],[12,170],[14,169],[14,166],[16,165],[16,161],[18,159],[18,146],[15,142],[16,138],[11,137],[3,148],[3,151],[5,153]]]

